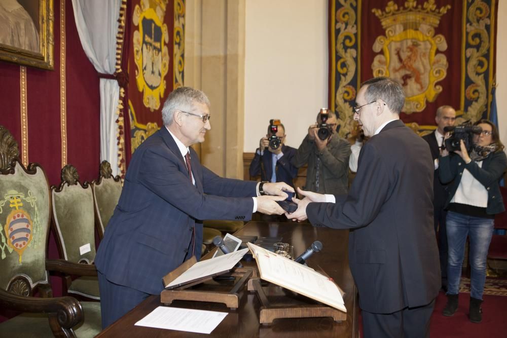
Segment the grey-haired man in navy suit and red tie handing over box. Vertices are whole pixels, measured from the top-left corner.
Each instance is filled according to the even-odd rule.
[[[185,260],[200,258],[203,219],[283,213],[275,201],[287,197],[282,189],[294,191],[286,183],[222,178],[200,165],[190,145],[204,141],[209,118],[203,92],[177,88],[162,108],[164,126],[136,149],[95,259],[102,327],[160,294],[162,278]]]

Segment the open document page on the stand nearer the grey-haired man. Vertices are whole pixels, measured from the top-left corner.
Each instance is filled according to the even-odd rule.
[[[191,266],[187,271],[183,272],[176,279],[165,285],[171,289],[180,285],[195,282],[210,276],[220,275],[234,268],[237,262],[245,255],[248,249],[242,249],[228,253],[226,255],[201,260]]]

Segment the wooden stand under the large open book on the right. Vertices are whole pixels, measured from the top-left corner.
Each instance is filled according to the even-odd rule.
[[[323,275],[323,271],[320,271]],[[343,291],[339,288],[343,296]],[[332,317],[334,321],[341,322],[347,319],[347,314],[313,299],[287,290],[276,284],[269,283],[263,287],[259,278],[248,281],[248,291],[255,291],[261,303],[259,322],[267,325],[278,318],[314,318]],[[268,300],[271,298],[271,302]]]

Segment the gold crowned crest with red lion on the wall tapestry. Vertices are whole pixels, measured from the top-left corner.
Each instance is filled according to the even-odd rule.
[[[373,76],[387,76],[400,81],[406,93],[403,111],[407,114],[422,111],[426,101],[433,102],[442,86],[437,85],[447,74],[448,62],[442,53],[447,42],[442,34],[435,35],[440,19],[451,8],[440,9],[434,0],[426,1],[422,7],[416,0],[405,2],[399,8],[390,1],[385,12],[373,9],[385,29],[385,36],[377,37],[373,51]]]

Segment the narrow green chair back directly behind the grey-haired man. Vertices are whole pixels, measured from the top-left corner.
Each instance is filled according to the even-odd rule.
[[[92,181],[92,192],[95,206],[95,224],[100,239],[104,237],[104,230],[115,211],[122,194],[122,179],[113,177],[111,164],[107,161],[100,163],[100,174],[96,181]]]

